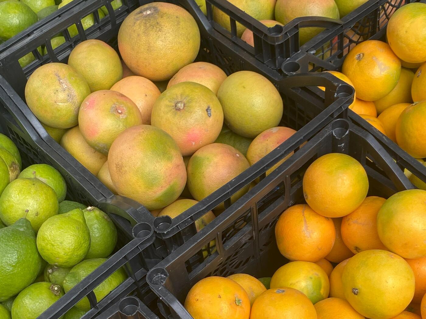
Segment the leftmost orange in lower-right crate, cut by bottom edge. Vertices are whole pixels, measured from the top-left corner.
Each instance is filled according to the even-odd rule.
[[[245,290],[223,277],[201,279],[190,289],[184,306],[194,319],[250,317],[250,299]]]

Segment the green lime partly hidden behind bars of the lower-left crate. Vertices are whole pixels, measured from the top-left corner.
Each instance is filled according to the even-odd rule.
[[[94,271],[105,261],[107,261],[106,258],[86,259],[78,265],[75,265],[68,273],[68,275],[66,275],[63,281],[63,289],[65,289],[65,292],[69,291],[72,287],[81,282],[81,280],[86,278],[89,273]],[[105,279],[98,287],[93,290],[96,296],[96,300],[98,302],[101,301],[110,291],[114,290],[115,287],[124,282],[125,279],[127,279],[127,274],[123,268],[120,268],[112,273],[111,276]],[[84,297],[75,305],[75,307],[81,310],[90,310],[89,299]]]

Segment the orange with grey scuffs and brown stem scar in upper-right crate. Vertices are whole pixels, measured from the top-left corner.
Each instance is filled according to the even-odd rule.
[[[401,62],[387,43],[367,40],[348,53],[342,73],[354,83],[359,99],[375,101],[395,88],[401,73]]]

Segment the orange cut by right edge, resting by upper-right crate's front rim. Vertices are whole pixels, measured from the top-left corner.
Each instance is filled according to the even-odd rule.
[[[414,158],[426,157],[426,100],[414,102],[398,117],[395,135],[398,145]]]

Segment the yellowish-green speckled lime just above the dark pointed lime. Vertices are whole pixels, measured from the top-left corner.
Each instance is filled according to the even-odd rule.
[[[36,178],[18,178],[0,196],[0,218],[12,225],[25,217],[38,231],[49,217],[58,214],[58,197],[52,187]]]

